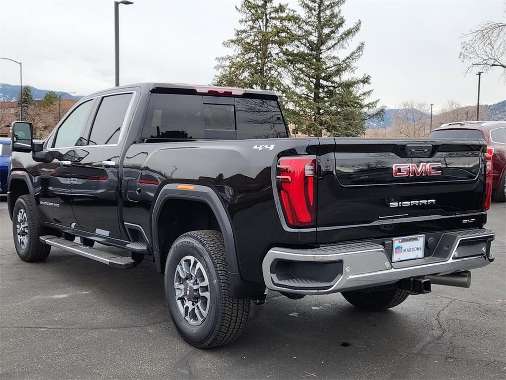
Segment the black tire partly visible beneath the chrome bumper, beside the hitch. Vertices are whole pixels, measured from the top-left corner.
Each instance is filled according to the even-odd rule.
[[[394,308],[404,302],[409,293],[403,289],[386,289],[372,292],[342,292],[343,297],[354,307],[368,312],[379,312]]]

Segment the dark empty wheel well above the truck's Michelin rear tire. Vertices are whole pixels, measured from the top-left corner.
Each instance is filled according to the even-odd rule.
[[[189,231],[221,231],[213,210],[204,202],[182,199],[168,199],[163,204],[156,229],[160,247],[160,268],[165,268],[167,253],[174,241]]]

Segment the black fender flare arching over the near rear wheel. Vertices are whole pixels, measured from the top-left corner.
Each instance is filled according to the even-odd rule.
[[[239,264],[237,262],[237,251],[235,247],[235,239],[234,232],[232,229],[232,223],[230,222],[230,217],[225,210],[225,206],[221,202],[220,198],[216,194],[216,192],[208,187],[203,185],[192,185],[195,186],[192,190],[187,189],[179,189],[178,185],[180,183],[167,183],[162,186],[158,192],[158,196],[156,197],[156,201],[153,204],[153,208],[151,211],[151,239],[152,239],[152,248],[153,255],[156,264],[156,269],[161,273],[163,268],[161,268],[161,252],[160,247],[158,245],[158,229],[156,228],[156,224],[158,218],[160,216],[161,209],[163,204],[168,199],[182,199],[196,202],[203,202],[207,204],[210,209],[215,214],[216,219],[218,220],[218,224],[220,225],[220,229],[223,234],[223,241],[225,243],[225,255],[227,256],[227,264],[228,264],[228,272],[229,274],[238,275],[239,274]]]

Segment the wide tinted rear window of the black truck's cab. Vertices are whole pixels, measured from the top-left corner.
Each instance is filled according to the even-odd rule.
[[[141,134],[151,139],[288,137],[275,100],[151,94]]]

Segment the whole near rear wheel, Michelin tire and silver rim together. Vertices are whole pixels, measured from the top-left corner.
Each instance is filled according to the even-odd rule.
[[[240,335],[249,298],[230,293],[221,233],[192,231],[174,242],[165,264],[165,298],[179,334],[194,347],[222,346]]]

